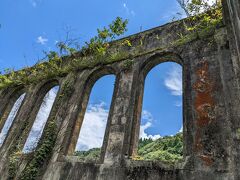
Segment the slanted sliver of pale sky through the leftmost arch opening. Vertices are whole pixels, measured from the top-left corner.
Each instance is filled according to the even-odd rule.
[[[7,111],[6,114],[8,114],[6,120],[4,120],[5,119],[4,117],[2,118],[2,120],[4,121],[4,125],[1,128],[1,132],[0,132],[0,147],[4,143],[7,137],[7,134],[14,123],[14,120],[17,116],[17,113],[19,112],[19,109],[23,103],[25,96],[26,96],[26,93],[21,94],[13,104],[11,111],[8,112],[8,110],[6,110]]]

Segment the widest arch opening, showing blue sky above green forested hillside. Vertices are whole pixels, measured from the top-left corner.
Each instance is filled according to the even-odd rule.
[[[173,164],[183,158],[182,66],[164,62],[144,73],[134,156]]]

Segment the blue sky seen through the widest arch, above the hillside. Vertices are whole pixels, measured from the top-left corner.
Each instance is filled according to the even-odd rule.
[[[182,128],[182,67],[173,62],[154,67],[145,79],[142,126],[147,134],[174,135]]]

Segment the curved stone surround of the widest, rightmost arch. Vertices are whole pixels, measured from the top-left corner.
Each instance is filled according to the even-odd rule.
[[[138,149],[138,139],[139,139],[139,133],[140,133],[140,125],[141,125],[141,114],[142,114],[142,105],[143,105],[143,94],[144,94],[144,85],[145,85],[145,79],[148,75],[148,73],[156,66],[160,65],[164,62],[174,62],[182,67],[182,88],[183,88],[183,94],[182,94],[182,105],[183,105],[183,112],[182,112],[182,123],[183,128],[184,127],[184,121],[185,121],[185,114],[184,114],[184,107],[185,107],[185,67],[184,62],[182,58],[179,55],[176,55],[174,53],[157,53],[150,58],[144,60],[140,65],[140,71],[138,75],[138,88],[136,92],[136,98],[135,98],[135,107],[134,107],[134,119],[131,127],[131,138],[130,138],[130,150],[129,155],[135,156],[137,155],[137,149]],[[185,137],[184,137],[185,138]],[[183,140],[185,142],[185,140]],[[184,143],[185,144],[185,143]]]

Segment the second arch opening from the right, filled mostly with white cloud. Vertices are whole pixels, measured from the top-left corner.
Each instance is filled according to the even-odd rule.
[[[104,151],[104,139],[114,91],[115,75],[98,79],[86,97],[84,117],[76,125],[78,132],[73,156],[81,161],[99,161]],[[81,113],[80,113],[81,114]]]

